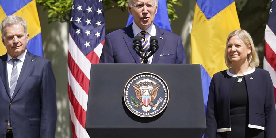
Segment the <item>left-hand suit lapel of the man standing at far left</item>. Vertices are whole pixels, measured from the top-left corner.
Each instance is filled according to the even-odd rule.
[[[10,98],[10,87],[9,87],[9,82],[8,82],[8,71],[7,71],[7,62],[8,62],[7,59],[8,59],[7,54],[1,56],[1,59],[0,59],[0,76],[1,76],[1,79],[4,83],[6,93],[8,94],[8,96]]]

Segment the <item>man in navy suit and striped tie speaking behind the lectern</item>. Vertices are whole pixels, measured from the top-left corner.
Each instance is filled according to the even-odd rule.
[[[153,24],[157,5],[157,0],[128,0],[128,12],[133,15],[134,22],[105,37],[100,63],[141,63],[143,59],[132,45],[134,36],[142,36],[142,31],[145,31],[147,43],[151,36],[156,36],[159,44],[159,49],[148,59],[148,63],[186,63],[180,36]]]

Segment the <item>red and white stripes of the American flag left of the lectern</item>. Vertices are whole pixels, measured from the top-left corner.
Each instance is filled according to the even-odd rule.
[[[99,63],[104,41],[85,56],[69,34],[68,95],[74,138],[89,138],[85,129],[90,67]]]

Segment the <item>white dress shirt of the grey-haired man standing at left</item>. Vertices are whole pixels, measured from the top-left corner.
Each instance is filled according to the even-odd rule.
[[[24,60],[25,60],[25,56],[27,53],[27,49],[25,50],[25,52],[23,52],[20,56],[17,57],[17,59],[19,59],[19,61],[17,62],[16,66],[17,66],[17,71],[18,71],[18,75],[17,75],[17,79],[20,75]],[[8,59],[7,59],[7,71],[8,71],[8,82],[9,82],[9,87],[10,87],[10,77],[11,77],[11,72],[13,70],[13,62],[10,60],[13,59],[13,57],[11,57],[8,54]]]

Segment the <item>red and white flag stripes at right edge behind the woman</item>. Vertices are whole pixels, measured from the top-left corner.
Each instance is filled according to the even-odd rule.
[[[263,69],[269,71],[269,74],[271,76],[273,86],[274,86],[274,94],[275,94],[275,101],[276,101],[276,54],[275,53],[276,53],[276,36],[269,28],[269,26],[266,25]]]

